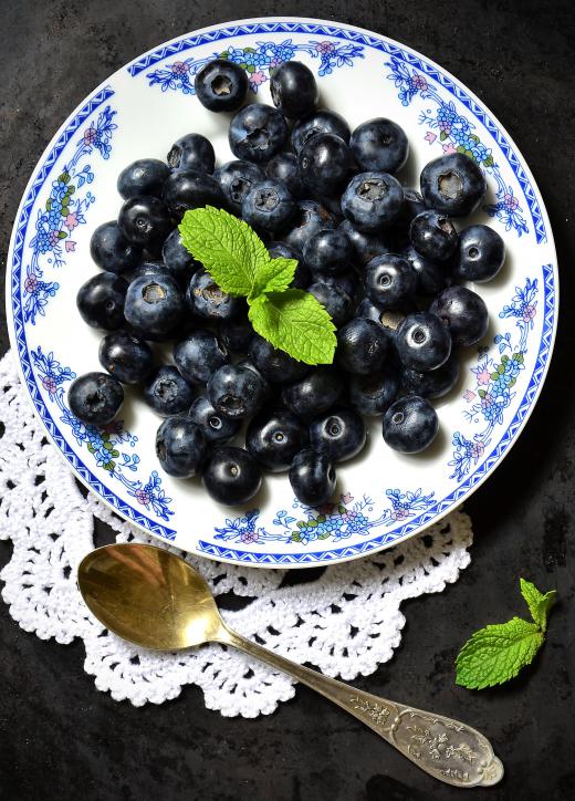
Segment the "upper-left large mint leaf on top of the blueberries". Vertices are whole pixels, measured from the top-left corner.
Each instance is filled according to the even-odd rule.
[[[271,261],[265,245],[247,222],[213,206],[186,211],[179,231],[184,247],[234,297],[252,294],[259,266]]]

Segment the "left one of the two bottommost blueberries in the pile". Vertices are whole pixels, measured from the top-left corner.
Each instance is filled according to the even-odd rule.
[[[224,445],[213,450],[202,481],[208,495],[218,503],[239,506],[258,495],[262,474],[247,450]]]

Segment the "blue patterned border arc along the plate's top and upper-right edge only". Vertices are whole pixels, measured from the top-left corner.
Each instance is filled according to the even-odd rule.
[[[487,114],[487,112],[475,103],[475,101],[468,95],[466,90],[453,83],[453,81],[439,72],[433,64],[430,64],[425,59],[419,58],[415,53],[404,50],[398,44],[389,42],[379,37],[372,37],[368,33],[360,31],[353,31],[346,28],[339,28],[337,25],[320,24],[315,22],[249,22],[242,25],[233,25],[230,28],[220,28],[216,31],[206,31],[205,33],[198,33],[194,37],[186,37],[179,39],[177,42],[161,45],[156,50],[147,53],[142,59],[138,59],[127,67],[130,75],[138,75],[140,72],[146,70],[150,64],[156,64],[163,61],[167,56],[181,53],[186,50],[191,50],[199,46],[200,44],[209,44],[210,42],[219,42],[224,39],[231,39],[233,37],[253,35],[254,33],[306,33],[306,34],[320,34],[332,37],[334,39],[344,39],[352,42],[359,42],[366,46],[379,50],[387,55],[395,55],[406,64],[416,66],[426,75],[433,79],[437,83],[448,90],[450,94],[458,98],[470,112],[485,126],[490,134],[494,137],[498,145],[500,146],[503,155],[505,156],[509,166],[513,170],[516,179],[523,189],[525,201],[531,212],[533,220],[533,227],[535,230],[535,238],[537,243],[547,241],[547,233],[545,231],[545,222],[537,198],[531,185],[529,177],[523,169],[519,156],[514,152],[510,142],[501,133],[495,122]]]

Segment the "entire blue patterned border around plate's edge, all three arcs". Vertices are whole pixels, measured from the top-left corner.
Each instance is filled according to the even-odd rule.
[[[527,204],[530,205],[530,209],[532,211],[532,217],[535,223],[535,231],[537,236],[537,241],[544,241],[545,239],[545,229],[543,226],[541,209],[539,207],[539,204],[535,198],[535,194],[533,190],[533,187],[531,186],[529,178],[525,176],[525,173],[523,168],[521,167],[521,164],[519,162],[518,156],[512,150],[511,146],[506,142],[506,139],[500,134],[498,131],[495,124],[490,119],[490,117],[472,101],[468,95],[462,93],[462,91],[456,86],[450,79],[447,79],[445,75],[441,75],[437,72],[437,70],[427,64],[426,62],[421,61],[417,56],[412,55],[411,53],[408,53],[407,51],[402,51],[399,46],[395,44],[390,44],[388,42],[385,42],[380,39],[375,39],[373,37],[369,37],[365,33],[359,33],[355,31],[348,31],[346,29],[339,29],[339,28],[332,28],[330,25],[318,25],[318,24],[302,24],[302,23],[290,23],[290,22],[282,22],[282,23],[253,23],[248,25],[240,25],[236,28],[228,28],[228,29],[220,29],[218,31],[212,31],[203,34],[199,34],[195,38],[188,38],[185,40],[180,40],[177,43],[174,43],[172,45],[166,45],[165,48],[160,48],[154,53],[148,54],[147,56],[144,56],[144,59],[139,60],[135,64],[133,64],[129,70],[132,74],[137,74],[142,70],[146,69],[150,63],[155,63],[156,61],[160,61],[161,59],[166,58],[166,55],[170,55],[176,52],[181,52],[182,50],[187,50],[192,46],[197,46],[200,43],[210,42],[210,41],[218,41],[220,39],[227,39],[230,37],[239,35],[239,34],[250,34],[250,33],[265,33],[265,32],[274,32],[274,31],[282,31],[286,33],[296,33],[296,32],[304,32],[304,33],[322,33],[324,35],[332,35],[341,39],[351,39],[353,41],[360,41],[369,46],[374,46],[378,50],[383,50],[384,52],[397,55],[404,61],[407,61],[408,63],[416,64],[418,69],[421,69],[426,74],[435,77],[435,80],[439,81],[446,89],[448,89],[452,94],[458,96],[462,102],[468,105],[468,107],[472,111],[473,114],[477,116],[480,116],[480,118],[483,119],[485,126],[493,133],[498,142],[500,143],[502,149],[504,149],[510,166],[512,167],[514,174],[516,175],[518,179],[520,180],[523,190],[525,193],[525,198],[527,199]],[[30,392],[32,402],[34,403],[34,406],[44,423],[48,431],[54,439],[54,443],[60,448],[60,450],[64,454],[66,459],[71,462],[72,467],[75,469],[75,471],[81,476],[81,478],[86,481],[86,483],[90,485],[90,487],[100,495],[104,500],[106,500],[111,506],[113,506],[115,509],[118,510],[122,514],[124,514],[129,520],[134,521],[136,524],[140,526],[142,528],[148,530],[150,533],[154,533],[156,535],[159,535],[167,540],[174,540],[176,538],[176,531],[174,529],[169,529],[165,526],[161,526],[157,523],[154,520],[150,520],[149,518],[145,517],[140,512],[133,509],[130,506],[122,501],[119,498],[115,496],[114,492],[112,492],[105,485],[102,483],[102,481],[79,459],[76,454],[67,445],[65,438],[61,434],[58,425],[52,419],[50,412],[48,407],[44,404],[44,400],[42,396],[39,393],[32,366],[29,358],[29,352],[28,352],[28,343],[25,339],[25,329],[23,324],[23,318],[22,318],[22,298],[21,298],[21,270],[22,270],[22,263],[23,263],[23,246],[25,240],[25,233],[28,229],[28,225],[30,221],[30,211],[31,208],[40,193],[40,189],[42,188],[45,179],[50,175],[52,167],[54,166],[56,159],[59,158],[60,154],[62,153],[62,149],[65,147],[66,143],[70,141],[70,138],[76,133],[80,125],[86,119],[86,117],[92,114],[98,106],[101,106],[108,97],[111,97],[114,94],[114,91],[109,86],[105,86],[103,90],[98,92],[94,97],[92,97],[82,108],[77,112],[75,117],[70,122],[70,124],[66,126],[66,128],[61,133],[59,136],[55,145],[53,146],[52,150],[48,155],[46,159],[44,160],[42,167],[40,168],[34,181],[32,183],[28,195],[25,197],[24,204],[22,206],[22,210],[17,223],[15,229],[15,236],[14,236],[14,247],[13,247],[13,256],[12,256],[12,274],[11,274],[11,305],[12,305],[12,314],[14,320],[14,336],[15,336],[15,343],[18,347],[18,353],[20,356],[20,363],[22,366],[22,373],[24,376],[24,382],[28,386],[28,389]],[[460,97],[460,94],[462,95]],[[523,176],[523,179],[522,177]],[[527,194],[529,193],[529,194]],[[533,204],[530,202],[530,196],[533,199]],[[539,218],[536,217],[539,215]],[[540,222],[536,220],[539,219]],[[233,560],[237,562],[244,562],[244,563],[251,563],[251,564],[274,564],[274,565],[294,565],[294,564],[310,564],[315,562],[328,562],[336,559],[345,559],[349,556],[357,556],[365,554],[369,551],[373,551],[374,549],[381,548],[383,545],[389,544],[391,542],[396,542],[397,540],[400,540],[405,538],[407,534],[412,532],[415,529],[419,528],[420,526],[425,524],[428,521],[431,521],[436,519],[440,513],[443,514],[449,508],[456,506],[458,501],[461,499],[462,496],[466,495],[466,492],[471,488],[474,487],[479,481],[481,481],[495,466],[495,464],[500,460],[500,458],[503,456],[503,454],[508,450],[510,445],[512,444],[519,428],[521,427],[523,420],[525,419],[534,399],[537,393],[537,389],[540,387],[540,384],[543,379],[543,375],[545,373],[545,368],[548,362],[550,353],[551,353],[551,345],[553,341],[553,331],[555,325],[555,287],[554,287],[554,277],[553,277],[553,266],[552,264],[543,264],[543,279],[544,279],[544,320],[543,320],[543,331],[542,331],[542,337],[541,337],[541,344],[539,350],[539,355],[535,364],[535,368],[533,371],[533,374],[530,379],[530,384],[527,386],[527,389],[525,392],[525,395],[522,399],[522,403],[511,422],[510,426],[505,430],[502,439],[498,444],[498,446],[491,451],[489,457],[482,462],[482,465],[478,468],[478,470],[470,476],[464,482],[462,482],[459,487],[453,490],[449,496],[447,496],[442,501],[439,501],[430,509],[426,510],[422,514],[420,514],[417,518],[414,518],[406,522],[400,528],[396,529],[395,531],[386,531],[384,534],[373,538],[370,540],[366,540],[362,543],[358,543],[357,545],[351,545],[346,548],[341,549],[333,549],[327,551],[311,551],[307,553],[300,553],[300,554],[273,554],[273,553],[254,553],[249,551],[239,551],[236,549],[230,548],[222,548],[219,545],[215,545],[212,543],[206,542],[203,540],[200,540],[198,543],[198,548],[201,552],[206,553],[207,555],[213,556],[216,559],[227,559],[227,560]]]

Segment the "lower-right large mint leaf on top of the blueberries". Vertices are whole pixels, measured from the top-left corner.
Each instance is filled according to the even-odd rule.
[[[300,289],[260,295],[249,310],[254,330],[305,364],[332,364],[335,325],[317,300]]]

